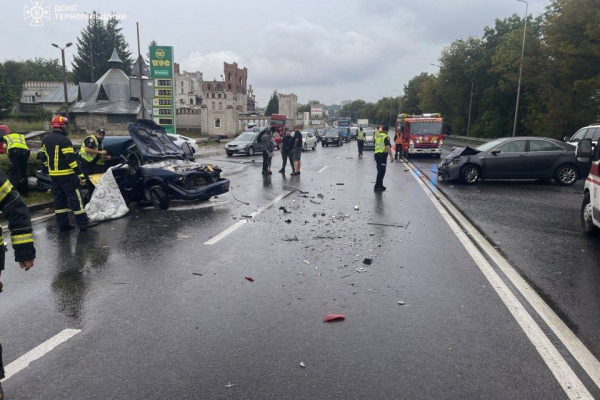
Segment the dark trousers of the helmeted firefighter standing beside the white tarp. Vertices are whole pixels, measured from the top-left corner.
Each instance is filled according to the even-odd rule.
[[[79,177],[75,174],[53,176],[51,180],[52,195],[54,196],[54,215],[58,226],[69,225],[69,211],[73,211],[77,225],[80,227],[89,224],[90,221],[83,206],[83,197],[79,191]]]

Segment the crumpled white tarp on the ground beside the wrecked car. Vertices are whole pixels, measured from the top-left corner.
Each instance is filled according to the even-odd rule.
[[[109,168],[102,175],[94,189],[92,199],[85,206],[85,211],[91,221],[100,222],[121,218],[129,211],[112,173],[113,168],[115,167]]]

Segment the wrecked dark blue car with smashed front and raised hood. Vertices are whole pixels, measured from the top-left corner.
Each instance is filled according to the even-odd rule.
[[[130,136],[104,139],[104,149],[112,159],[113,175],[127,203],[148,203],[160,210],[170,200],[208,200],[229,191],[229,180],[221,169],[190,161],[189,154],[177,147],[164,129],[153,121],[138,120],[128,127]],[[50,188],[44,171],[36,174],[38,185]]]

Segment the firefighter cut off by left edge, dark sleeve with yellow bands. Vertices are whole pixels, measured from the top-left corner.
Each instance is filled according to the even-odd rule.
[[[22,269],[28,271],[29,268],[33,267],[33,260],[35,259],[29,210],[2,171],[0,171],[0,211],[2,211],[4,218],[8,220],[8,229],[10,229],[11,234],[10,240],[15,251],[15,261],[19,263]],[[0,228],[1,236],[2,228]],[[0,275],[2,274],[2,270],[4,270],[5,250],[4,244],[0,245]],[[2,282],[0,282],[1,292]],[[2,362],[2,345],[0,344],[0,380],[2,379],[4,379],[4,364]],[[2,392],[2,384],[0,383],[0,400],[3,399],[4,393]]]

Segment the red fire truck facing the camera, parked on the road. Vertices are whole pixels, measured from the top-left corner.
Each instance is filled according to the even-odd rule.
[[[399,114],[396,123],[396,133],[402,140],[402,153],[405,158],[412,154],[433,154],[442,156],[444,120],[439,113],[408,115]]]

